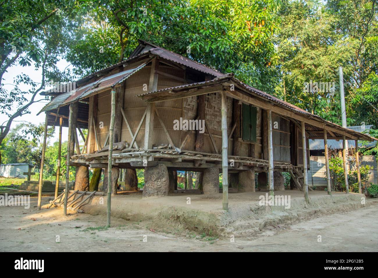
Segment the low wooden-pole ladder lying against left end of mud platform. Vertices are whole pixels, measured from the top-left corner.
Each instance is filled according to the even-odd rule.
[[[76,211],[78,213],[83,213],[84,211],[80,210],[79,208],[84,205],[84,203],[88,200],[91,199],[91,197],[93,195],[95,195],[95,193],[97,191],[79,191],[79,190],[69,190],[68,191],[69,193],[71,193],[70,195],[68,195],[67,197],[67,208],[69,210],[73,210],[73,211]],[[60,194],[58,197],[56,197],[56,199],[50,201],[50,207],[51,208],[52,206],[55,206],[55,207],[63,207],[64,205],[64,193],[65,193],[65,190],[63,191],[62,194]],[[85,196],[87,195],[87,196]],[[85,196],[85,198],[84,198]],[[81,198],[84,198],[80,201]],[[72,200],[70,200],[72,198]],[[59,199],[59,201],[58,201]]]

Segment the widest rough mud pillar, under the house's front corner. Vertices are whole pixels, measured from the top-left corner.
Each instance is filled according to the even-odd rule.
[[[144,169],[143,198],[153,196],[166,196],[169,191],[169,175],[167,166],[147,166]]]

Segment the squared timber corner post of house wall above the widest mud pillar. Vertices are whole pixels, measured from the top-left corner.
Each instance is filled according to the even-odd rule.
[[[156,73],[156,70],[158,68],[159,68],[159,60],[155,58],[151,62],[150,83],[148,87],[149,92],[154,92],[158,89],[158,74]],[[153,132],[154,119],[155,119],[155,103],[147,103],[146,128],[144,131],[144,149],[145,150],[152,149],[152,132]]]

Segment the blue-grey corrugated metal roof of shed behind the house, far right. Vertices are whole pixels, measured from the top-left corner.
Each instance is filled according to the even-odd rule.
[[[348,129],[354,130],[356,132],[360,133],[366,133],[367,131],[370,130],[372,125],[369,126],[349,126]],[[354,140],[347,140],[348,141],[348,146],[349,148],[355,148],[355,141]],[[327,140],[328,143],[328,149],[342,149],[342,140]],[[309,147],[310,151],[315,151],[315,150],[324,150],[324,140],[323,139],[310,139],[309,140]],[[376,145],[376,141],[369,142],[363,146],[362,142],[358,142],[358,147],[359,148],[369,148],[373,147]]]

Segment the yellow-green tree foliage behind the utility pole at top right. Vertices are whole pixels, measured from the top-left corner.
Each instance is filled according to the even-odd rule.
[[[373,28],[378,23],[375,0],[283,0],[280,7],[282,24],[276,40],[280,58],[276,67],[279,76],[276,95],[327,120],[341,123],[338,95],[338,67],[341,65],[347,123],[355,124],[359,111],[366,110],[367,105],[356,101],[356,89],[377,70],[378,30]],[[304,90],[305,82],[311,80],[334,82],[335,92]],[[372,107],[368,110],[373,112]]]

